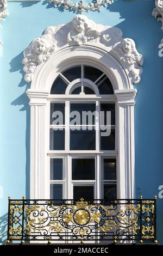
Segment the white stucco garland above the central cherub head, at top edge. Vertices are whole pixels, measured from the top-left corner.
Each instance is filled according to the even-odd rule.
[[[54,8],[62,7],[63,10],[73,10],[79,13],[84,13],[84,11],[101,11],[102,7],[107,7],[115,1],[117,0],[95,0],[87,4],[84,1],[73,3],[71,0],[47,0],[48,3],[54,3]]]

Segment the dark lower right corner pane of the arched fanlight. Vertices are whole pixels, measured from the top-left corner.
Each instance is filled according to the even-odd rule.
[[[111,84],[109,78],[106,77],[104,80],[103,79],[104,79],[104,77],[102,77],[97,82],[97,86],[98,86],[98,89],[99,89],[99,94],[114,94],[112,84]]]

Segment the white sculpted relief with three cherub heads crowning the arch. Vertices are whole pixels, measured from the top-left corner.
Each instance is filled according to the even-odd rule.
[[[83,44],[101,47],[111,53],[127,70],[131,82],[140,81],[143,57],[137,52],[135,42],[122,38],[119,28],[96,24],[80,14],[66,25],[48,27],[42,36],[32,41],[24,51],[24,79],[32,81],[36,66],[46,62],[60,48]]]

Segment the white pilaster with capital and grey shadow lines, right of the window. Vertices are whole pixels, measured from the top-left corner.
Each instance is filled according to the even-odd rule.
[[[135,198],[134,105],[136,89],[115,90],[117,97],[118,196]]]

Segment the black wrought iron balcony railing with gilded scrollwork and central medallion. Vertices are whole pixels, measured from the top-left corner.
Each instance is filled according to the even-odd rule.
[[[12,241],[130,241],[156,243],[154,199],[11,200]]]

